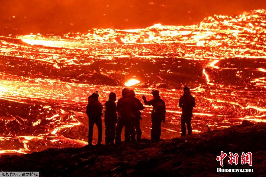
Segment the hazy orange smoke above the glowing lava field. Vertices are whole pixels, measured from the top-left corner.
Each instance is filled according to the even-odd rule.
[[[92,28],[192,25],[215,14],[265,9],[263,0],[9,0],[1,1],[0,34],[65,34]]]

